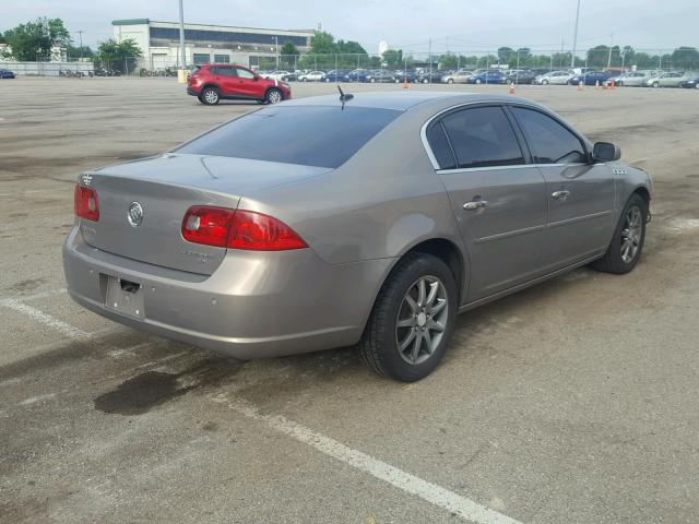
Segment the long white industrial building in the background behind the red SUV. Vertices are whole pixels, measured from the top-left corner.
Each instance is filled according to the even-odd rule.
[[[179,23],[134,19],[115,20],[111,25],[115,40],[120,43],[126,38],[133,38],[143,51],[138,67],[152,71],[179,68]],[[185,24],[185,66],[235,62],[258,67],[262,58],[274,60],[287,41],[294,44],[299,52],[307,52],[310,49],[311,36],[311,29],[285,31]]]

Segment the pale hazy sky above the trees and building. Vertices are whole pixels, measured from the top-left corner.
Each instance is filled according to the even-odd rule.
[[[315,28],[358,40],[377,52],[391,47],[485,52],[499,45],[570,48],[577,0],[183,0],[187,22],[271,28]],[[176,21],[177,0],[0,0],[0,31],[37,16],[63,19],[94,46],[111,36],[111,20]],[[596,44],[636,48],[699,47],[699,0],[581,0],[578,48]]]

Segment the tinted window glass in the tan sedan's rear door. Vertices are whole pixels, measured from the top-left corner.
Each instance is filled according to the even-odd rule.
[[[442,119],[460,168],[524,164],[510,121],[500,107],[476,107]]]

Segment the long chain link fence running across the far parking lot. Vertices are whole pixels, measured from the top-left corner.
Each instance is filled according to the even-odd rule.
[[[647,70],[647,71],[699,71],[699,51],[696,48],[675,49],[631,49],[630,47],[607,47],[580,50],[573,53],[565,49],[499,48],[497,50],[459,51],[402,51],[389,50],[382,55],[339,53],[339,55],[275,55],[272,48],[264,52],[250,51],[244,55],[226,49],[211,49],[208,52],[191,53],[194,63],[238,63],[261,74],[284,72],[289,81],[318,81],[319,74],[330,82],[367,81],[367,72],[378,72],[370,76],[375,81],[404,81],[413,76],[427,75],[427,82],[438,79],[447,71],[477,70],[531,70],[538,74],[570,69],[594,70]],[[0,67],[17,74],[60,75],[61,71],[90,72],[100,76],[176,76],[179,67],[177,52],[143,57],[114,57],[96,60],[69,57],[66,62],[0,62]],[[402,72],[402,74],[401,74]],[[316,74],[312,74],[316,73]],[[389,74],[390,73],[390,74]],[[68,73],[67,73],[68,74]],[[78,74],[76,74],[78,75]],[[281,78],[280,78],[281,80]]]

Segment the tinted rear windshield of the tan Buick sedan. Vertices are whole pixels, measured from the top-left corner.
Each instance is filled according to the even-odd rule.
[[[335,168],[401,111],[284,104],[245,115],[182,145],[177,153]]]

